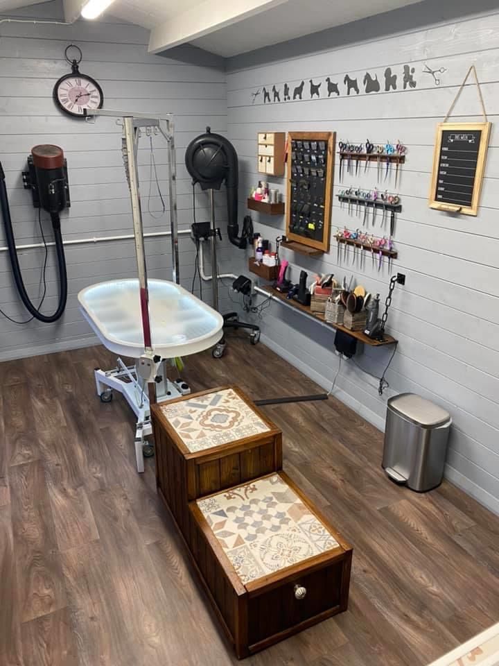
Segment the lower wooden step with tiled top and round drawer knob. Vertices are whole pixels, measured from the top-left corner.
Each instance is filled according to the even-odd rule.
[[[191,502],[189,520],[238,658],[347,609],[352,549],[283,472]]]

